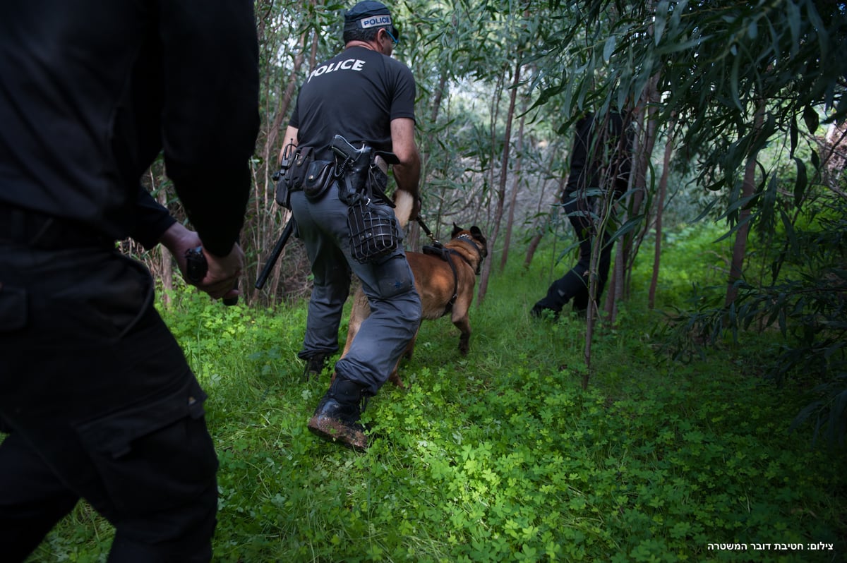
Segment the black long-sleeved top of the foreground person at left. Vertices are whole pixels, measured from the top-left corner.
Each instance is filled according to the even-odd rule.
[[[163,150],[204,245],[227,254],[258,130],[252,5],[0,3],[0,205],[148,244],[169,220],[139,179]]]

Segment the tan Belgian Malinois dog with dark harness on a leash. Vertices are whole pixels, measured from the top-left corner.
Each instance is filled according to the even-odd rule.
[[[424,252],[406,253],[415,277],[415,289],[418,290],[421,298],[421,317],[433,320],[450,313],[451,321],[461,333],[459,352],[462,356],[468,354],[471,338],[468,311],[473,301],[476,276],[479,275],[482,262],[488,255],[486,245],[487,241],[476,226],[462,229],[453,224],[451,240],[446,245],[429,246],[424,248]],[[359,327],[368,315],[370,315],[368,297],[360,287],[353,296],[347,339],[341,357],[344,357],[350,349]],[[414,338],[407,345],[405,357],[412,357],[417,338],[418,334],[415,333]],[[405,387],[397,375],[396,366],[389,379],[398,387]]]

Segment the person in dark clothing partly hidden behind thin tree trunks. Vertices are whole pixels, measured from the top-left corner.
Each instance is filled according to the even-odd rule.
[[[621,196],[626,190],[631,168],[632,140],[628,124],[620,113],[595,117],[588,113],[579,119],[571,150],[571,170],[562,196],[562,208],[570,219],[579,240],[579,260],[547,290],[547,295],[531,309],[534,317],[551,314],[558,317],[562,307],[572,302],[573,311],[584,316],[588,310],[591,248],[595,244],[598,203],[603,200],[597,190],[610,197]],[[591,193],[594,191],[594,193]],[[595,303],[600,303],[609,268],[612,263],[612,235],[604,230],[597,266]]]

